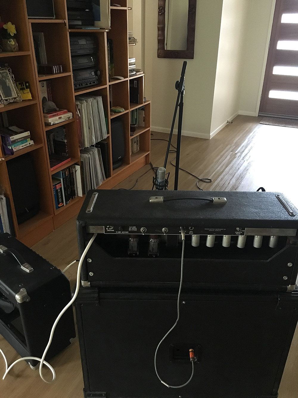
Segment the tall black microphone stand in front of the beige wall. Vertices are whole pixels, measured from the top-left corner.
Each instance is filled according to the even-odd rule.
[[[183,96],[184,96],[184,88],[185,88],[184,76],[185,76],[186,65],[187,65],[187,62],[184,61],[183,66],[182,66],[180,80],[177,81],[175,84],[175,88],[176,88],[176,90],[178,90],[178,95],[177,95],[176,106],[175,106],[175,110],[174,110],[172,127],[171,127],[171,131],[170,131],[170,138],[168,140],[168,147],[166,149],[166,157],[164,159],[164,168],[166,169],[166,163],[168,162],[168,154],[170,151],[170,146],[171,146],[171,141],[172,141],[172,136],[173,136],[173,131],[174,131],[174,125],[175,125],[177,110],[178,110],[178,106],[179,106],[177,152],[176,152],[176,166],[175,166],[175,183],[174,183],[175,191],[178,190],[178,176],[179,176],[181,135],[182,135],[182,117],[183,117]]]

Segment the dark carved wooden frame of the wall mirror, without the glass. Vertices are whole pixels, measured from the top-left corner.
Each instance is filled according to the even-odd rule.
[[[187,23],[186,50],[166,50],[164,48],[165,6],[166,6],[166,0],[158,0],[157,57],[158,58],[194,59],[195,12],[196,12],[196,8],[197,8],[197,0],[188,0],[188,23]]]

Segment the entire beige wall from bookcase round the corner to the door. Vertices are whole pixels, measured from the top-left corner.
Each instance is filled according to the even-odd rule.
[[[256,114],[273,3],[197,0],[195,54],[187,60],[185,76],[183,134],[210,139],[237,113]],[[169,132],[183,59],[157,58],[158,0],[143,4],[144,94],[152,101],[152,130]],[[177,121],[178,115],[176,127]]]

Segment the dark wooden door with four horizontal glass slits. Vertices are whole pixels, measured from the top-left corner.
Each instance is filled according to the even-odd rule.
[[[298,0],[276,0],[259,115],[298,117]]]

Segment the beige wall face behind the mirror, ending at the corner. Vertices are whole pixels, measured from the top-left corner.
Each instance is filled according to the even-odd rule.
[[[169,132],[183,59],[157,58],[157,4],[145,0],[145,96],[152,101],[152,130]],[[197,0],[195,54],[187,60],[182,126],[184,134],[194,137],[210,137],[222,4]]]

